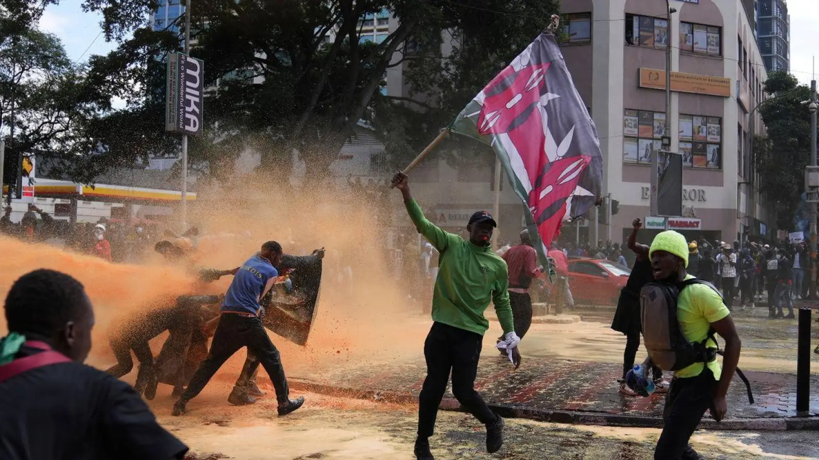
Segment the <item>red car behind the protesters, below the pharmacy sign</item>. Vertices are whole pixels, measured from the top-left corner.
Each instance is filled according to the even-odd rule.
[[[568,259],[568,286],[575,304],[616,305],[631,270],[610,260]]]

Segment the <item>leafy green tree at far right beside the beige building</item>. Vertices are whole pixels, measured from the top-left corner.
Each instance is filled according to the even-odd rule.
[[[779,228],[793,228],[810,161],[811,115],[802,103],[810,99],[810,88],[779,70],[768,74],[764,90],[772,95],[759,108],[767,138],[753,140],[759,191],[777,203]]]

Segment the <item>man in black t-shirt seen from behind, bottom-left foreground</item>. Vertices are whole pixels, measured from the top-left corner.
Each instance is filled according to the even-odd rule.
[[[0,458],[183,458],[188,448],[131,386],[83,364],[94,313],[77,280],[53,270],[28,273],[11,286],[5,310]]]

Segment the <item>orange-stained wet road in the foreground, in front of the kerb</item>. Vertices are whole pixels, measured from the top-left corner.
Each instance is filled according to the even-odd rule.
[[[210,390],[210,389],[209,389]],[[275,401],[226,406],[218,391],[206,391],[185,417],[165,415],[170,400],[152,404],[163,423],[192,451],[188,460],[410,460],[414,408],[307,395],[305,408],[275,416]],[[160,399],[160,398],[158,398]],[[499,453],[484,449],[485,431],[473,417],[441,412],[430,439],[438,460],[641,460],[653,458],[659,431],[649,428],[571,426],[508,419]],[[698,431],[691,444],[713,460],[819,458],[813,433]]]

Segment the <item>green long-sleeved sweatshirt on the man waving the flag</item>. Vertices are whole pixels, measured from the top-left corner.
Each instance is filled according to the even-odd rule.
[[[504,334],[514,331],[505,260],[490,247],[475,246],[437,228],[423,217],[414,200],[405,205],[415,228],[441,253],[432,295],[432,320],[483,335],[489,329],[483,311],[492,300]]]

